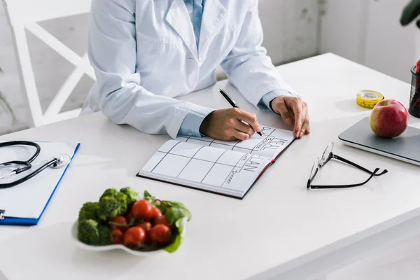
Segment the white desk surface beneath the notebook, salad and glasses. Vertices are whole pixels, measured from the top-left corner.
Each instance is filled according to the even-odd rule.
[[[407,106],[409,85],[332,54],[278,69],[309,103],[311,134],[295,141],[244,200],[137,178],[169,137],[115,125],[101,113],[0,137],[81,143],[40,223],[0,228],[1,272],[8,279],[266,279],[418,216],[419,167],[343,146],[337,139],[370,113],[356,104],[358,91],[377,90]],[[239,106],[258,113],[260,124],[285,127],[278,116],[258,112],[226,84],[183,99],[227,108],[218,93],[224,87]],[[409,122],[420,127],[419,119],[410,116]],[[330,141],[338,155],[389,173],[363,187],[307,190],[314,158]],[[350,169],[323,178],[364,181],[365,174]],[[123,251],[76,248],[70,228],[83,202],[97,200],[106,188],[123,186],[186,204],[193,220],[179,251],[141,259]]]

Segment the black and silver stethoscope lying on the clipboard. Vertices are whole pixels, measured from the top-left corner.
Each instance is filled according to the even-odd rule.
[[[10,176],[16,175],[16,174],[20,174],[22,172],[25,172],[29,169],[32,168],[31,162],[33,162],[36,157],[38,157],[39,153],[41,153],[41,146],[39,146],[38,144],[31,142],[31,141],[8,141],[8,142],[1,142],[0,143],[0,148],[2,147],[8,147],[8,146],[32,146],[34,148],[36,148],[36,151],[34,153],[34,155],[31,156],[31,158],[29,158],[29,160],[26,161],[20,161],[20,160],[11,160],[10,162],[3,162],[0,163],[0,169],[2,167],[11,167],[13,165],[16,166],[15,169],[13,169],[10,173],[5,174],[5,175],[0,175],[0,180],[1,179],[6,179]],[[31,179],[32,177],[34,177],[36,174],[39,174],[41,171],[43,171],[44,169],[46,169],[47,167],[51,167],[51,168],[61,168],[64,167],[66,165],[69,164],[71,158],[69,155],[57,155],[55,157],[52,158],[52,160],[46,162],[44,165],[42,165],[41,167],[38,167],[38,169],[36,169],[34,172],[32,172],[31,174],[28,174],[16,181],[10,182],[10,183],[0,183],[0,189],[1,188],[11,188],[13,186],[18,186],[20,183],[23,183],[29,179]]]

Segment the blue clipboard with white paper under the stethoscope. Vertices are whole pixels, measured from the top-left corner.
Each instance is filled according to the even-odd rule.
[[[37,166],[43,164],[45,160],[50,160],[56,154],[66,153],[70,156],[71,161],[62,169],[47,168],[18,186],[0,189],[0,216],[2,216],[0,225],[37,225],[80,147],[78,142],[36,143],[41,146],[41,153],[32,162],[33,167],[27,172],[19,174],[20,176],[30,174]],[[6,148],[9,148],[9,151],[6,151]],[[10,153],[10,149],[13,148],[18,149]],[[26,149],[28,150],[29,148]],[[22,153],[25,153],[25,149],[22,146],[4,147],[0,150],[0,155],[2,153],[9,157],[12,154],[22,155]],[[26,153],[31,153],[31,151],[26,151]],[[11,176],[10,181],[15,181],[20,176]]]

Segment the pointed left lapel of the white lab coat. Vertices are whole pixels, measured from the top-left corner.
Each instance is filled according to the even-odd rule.
[[[188,15],[186,4],[183,0],[172,0],[165,20],[175,29],[182,38],[187,48],[198,61],[197,44],[195,43],[195,34],[193,24]]]

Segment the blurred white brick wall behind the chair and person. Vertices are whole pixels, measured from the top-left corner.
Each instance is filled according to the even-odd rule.
[[[34,0],[35,1],[35,0]],[[265,31],[264,45],[275,64],[281,64],[316,53],[318,26],[317,0],[260,0],[260,18]],[[86,51],[88,15],[41,22],[41,26],[57,36],[79,55]],[[32,57],[36,85],[45,110],[73,66],[50,50],[29,32],[29,51]],[[8,118],[0,115],[0,134],[27,128],[29,111],[20,89],[10,30],[6,24],[0,1],[0,91],[12,105],[18,116],[18,125],[10,127]],[[67,102],[65,109],[83,104],[92,80],[83,78]]]

